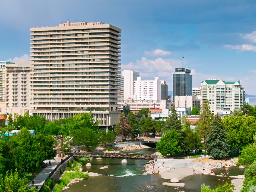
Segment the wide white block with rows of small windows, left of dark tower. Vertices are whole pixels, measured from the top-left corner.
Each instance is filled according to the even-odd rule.
[[[134,95],[136,100],[161,100],[161,81],[158,77],[154,80],[141,80],[140,77],[134,81]]]

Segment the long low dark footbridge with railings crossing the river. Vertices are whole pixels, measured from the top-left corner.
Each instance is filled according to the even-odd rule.
[[[86,158],[120,158],[120,159],[149,159],[155,160],[156,155],[152,154],[134,154],[134,153],[88,153],[88,152],[72,152],[74,157]]]

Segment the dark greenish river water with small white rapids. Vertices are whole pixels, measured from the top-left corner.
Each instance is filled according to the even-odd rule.
[[[144,149],[125,151],[124,153],[152,154],[155,151],[155,149]],[[202,183],[215,188],[219,184],[230,181],[227,177],[195,174],[181,180],[180,182],[185,183],[185,187],[177,189],[176,187],[162,186],[162,182],[168,182],[169,180],[162,179],[158,174],[143,175],[145,172],[144,164],[148,162],[148,160],[128,159],[127,164],[122,164],[121,161],[122,159],[90,160],[92,166],[83,166],[83,171],[95,172],[104,176],[91,176],[79,183],[70,185],[70,188],[66,189],[65,192],[177,192],[179,190],[184,192],[200,192]],[[108,165],[108,169],[100,170],[100,167],[106,165]],[[105,176],[106,170],[108,175],[113,174],[114,177]],[[243,171],[244,169],[237,167],[229,168],[230,175],[243,174]],[[216,169],[214,172],[219,174],[223,171]]]

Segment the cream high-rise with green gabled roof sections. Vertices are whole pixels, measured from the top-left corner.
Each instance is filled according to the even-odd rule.
[[[238,110],[245,103],[245,90],[240,81],[205,80],[201,82],[202,100],[208,99],[213,114]]]

